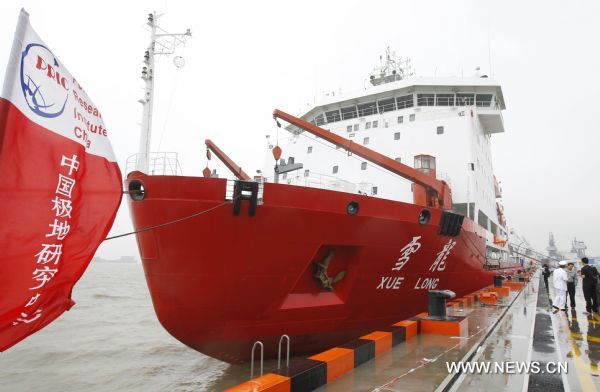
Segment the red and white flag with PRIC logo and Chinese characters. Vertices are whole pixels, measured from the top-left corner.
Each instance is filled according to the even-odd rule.
[[[0,96],[0,351],[73,306],[121,201],[108,136],[21,11]]]

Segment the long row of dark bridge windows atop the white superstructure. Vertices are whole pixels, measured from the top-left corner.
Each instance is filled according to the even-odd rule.
[[[416,94],[417,106],[477,106],[490,107],[494,98],[493,94],[475,93],[421,93]],[[319,114],[312,119],[315,125],[323,125],[342,120],[350,120],[358,117],[382,114],[395,110],[412,108],[415,106],[414,95],[408,94],[396,98],[386,98],[379,101],[361,103],[343,107],[339,110],[330,110]],[[402,116],[398,117],[401,123]]]

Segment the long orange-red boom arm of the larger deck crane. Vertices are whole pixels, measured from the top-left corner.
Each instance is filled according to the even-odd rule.
[[[307,131],[315,136],[320,137],[321,139],[327,140],[328,142],[336,146],[345,148],[353,154],[356,154],[359,157],[376,164],[377,166],[380,166],[394,174],[406,178],[407,180],[415,184],[425,187],[426,189],[432,191],[436,195],[440,207],[445,209],[452,208],[452,201],[450,198],[450,187],[444,181],[440,181],[434,177],[420,172],[419,170],[416,170],[410,166],[400,163],[395,159],[389,158],[367,147],[353,143],[352,140],[348,140],[346,138],[338,136],[333,132],[327,131],[312,123],[309,123],[308,121],[304,121],[302,119],[294,117],[291,114],[285,113],[281,110],[275,109],[275,111],[273,112],[273,118],[282,119],[292,125],[297,126],[300,129],[303,129],[304,131]]]

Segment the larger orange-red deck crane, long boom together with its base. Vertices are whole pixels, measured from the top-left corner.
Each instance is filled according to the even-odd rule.
[[[415,204],[446,210],[452,209],[452,191],[450,186],[445,181],[435,178],[435,168],[432,168],[433,170],[430,170],[429,167],[414,169],[369,148],[355,144],[352,140],[338,136],[333,132],[319,128],[308,121],[304,121],[278,109],[273,112],[273,118],[275,120],[284,120],[411,181],[413,183],[413,199]],[[277,126],[280,127],[281,124],[277,122]],[[433,158],[427,155],[422,155],[422,157]]]

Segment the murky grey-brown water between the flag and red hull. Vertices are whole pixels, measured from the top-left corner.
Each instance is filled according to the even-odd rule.
[[[143,268],[92,262],[76,305],[0,353],[0,391],[217,391],[249,377],[194,351],[159,324]]]

